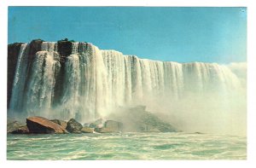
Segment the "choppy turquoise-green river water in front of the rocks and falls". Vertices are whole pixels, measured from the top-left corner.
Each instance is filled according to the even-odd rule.
[[[186,133],[8,135],[7,159],[247,159],[247,142]]]

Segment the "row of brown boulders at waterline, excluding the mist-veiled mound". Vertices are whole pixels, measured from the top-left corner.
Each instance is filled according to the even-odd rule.
[[[8,133],[12,134],[65,134],[65,133],[113,133],[122,131],[122,123],[107,120],[102,124],[96,125],[97,121],[90,126],[83,126],[75,119],[68,122],[60,119],[45,119],[33,116],[26,119],[26,125],[21,125],[17,121],[8,123]]]

